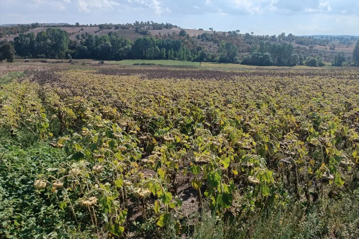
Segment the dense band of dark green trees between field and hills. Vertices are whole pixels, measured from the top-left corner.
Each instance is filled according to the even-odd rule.
[[[136,23],[137,24],[137,23]],[[141,23],[139,23],[141,24]],[[224,34],[213,32],[200,34],[200,37],[211,38],[218,42],[218,52],[210,52],[197,45],[198,37],[190,37],[185,30],[179,34],[156,35],[155,37],[139,37],[134,42],[120,37],[117,33],[109,32],[107,35],[81,34],[70,40],[69,33],[59,28],[47,28],[36,36],[33,32],[14,38],[11,43],[3,42],[0,58],[12,61],[15,53],[27,58],[52,58],[63,59],[65,56],[75,59],[176,59],[182,61],[198,62],[226,62],[251,64],[256,66],[295,66],[297,64],[307,66],[323,66],[320,56],[308,57],[301,54],[300,48],[294,48],[291,43],[281,43],[270,40],[255,39],[253,34],[246,33],[241,40],[247,42],[253,40],[249,54],[239,59],[239,53],[243,51],[234,35],[239,35],[239,30]],[[258,43],[257,43],[258,42]],[[358,45],[358,43],[357,43]],[[357,47],[356,47],[357,48]],[[343,58],[344,57],[344,58]],[[356,63],[353,53],[353,62]],[[348,61],[345,54],[337,54],[333,65],[339,66]]]

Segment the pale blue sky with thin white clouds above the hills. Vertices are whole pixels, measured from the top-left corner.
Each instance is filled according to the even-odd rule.
[[[359,35],[359,0],[0,0],[0,24],[168,22],[255,35]]]

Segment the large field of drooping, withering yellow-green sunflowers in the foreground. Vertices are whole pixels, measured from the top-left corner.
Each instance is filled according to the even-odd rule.
[[[358,68],[17,64],[2,238],[359,237]]]

